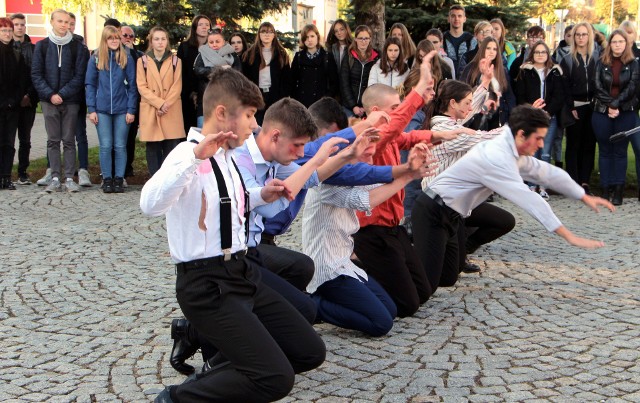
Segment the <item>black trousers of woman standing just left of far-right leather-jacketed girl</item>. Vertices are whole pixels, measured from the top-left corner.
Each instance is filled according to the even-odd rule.
[[[567,127],[565,169],[578,184],[589,183],[596,158],[596,137],[591,126],[593,110],[590,105],[576,108],[579,119]]]

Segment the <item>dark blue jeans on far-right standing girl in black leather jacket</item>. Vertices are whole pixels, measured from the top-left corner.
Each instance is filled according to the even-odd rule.
[[[634,111],[620,112],[620,115],[615,119],[611,119],[605,113],[593,112],[591,124],[598,141],[600,185],[603,189],[624,185],[627,176],[629,139],[625,138],[617,143],[611,143],[609,137],[618,132],[633,129],[635,123]]]

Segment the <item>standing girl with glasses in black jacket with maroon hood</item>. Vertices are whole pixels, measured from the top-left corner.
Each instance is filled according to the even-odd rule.
[[[371,68],[380,55],[371,45],[373,32],[366,25],[360,25],[355,31],[355,41],[349,47],[349,53],[342,60],[340,68],[340,92],[342,105],[349,114],[356,117],[364,115],[362,94],[369,83]]]

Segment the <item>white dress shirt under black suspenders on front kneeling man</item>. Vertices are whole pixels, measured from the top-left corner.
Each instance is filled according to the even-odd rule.
[[[191,128],[187,139],[202,141],[204,136],[199,129]],[[216,177],[208,159],[199,160],[195,157],[195,146],[190,141],[176,146],[158,172],[144,185],[140,195],[140,208],[144,214],[166,215],[169,251],[175,263],[223,254],[220,246],[220,195]],[[247,247],[243,211],[246,201],[232,156],[233,150],[220,148],[213,158],[222,171],[231,198],[231,253],[235,253]],[[247,190],[251,208],[265,204],[260,196],[261,188]],[[199,226],[203,202],[206,203],[206,229]]]

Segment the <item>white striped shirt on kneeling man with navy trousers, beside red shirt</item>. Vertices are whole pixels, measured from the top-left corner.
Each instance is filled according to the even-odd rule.
[[[380,185],[345,187],[323,183],[307,193],[302,245],[316,267],[307,292],[314,293],[322,284],[341,275],[358,281],[369,279],[351,261],[351,236],[360,229],[355,210],[371,211],[369,190],[376,186]]]

